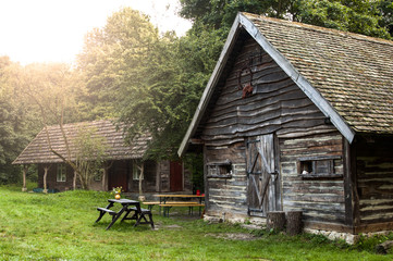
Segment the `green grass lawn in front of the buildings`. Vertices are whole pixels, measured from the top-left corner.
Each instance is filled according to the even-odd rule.
[[[392,260],[331,243],[323,237],[288,237],[250,232],[240,225],[208,224],[186,211],[170,217],[153,212],[157,229],[115,223],[95,224],[108,192],[42,195],[0,187],[0,260]],[[226,235],[255,236],[229,239]]]

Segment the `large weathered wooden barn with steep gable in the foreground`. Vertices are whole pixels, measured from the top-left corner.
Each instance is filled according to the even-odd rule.
[[[303,211],[309,231],[392,231],[393,42],[240,13],[189,150],[204,153],[207,217]]]

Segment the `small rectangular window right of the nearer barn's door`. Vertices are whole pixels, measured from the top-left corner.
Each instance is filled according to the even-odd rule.
[[[303,177],[340,177],[335,173],[336,161],[341,157],[307,157],[299,158],[297,163],[298,174]]]

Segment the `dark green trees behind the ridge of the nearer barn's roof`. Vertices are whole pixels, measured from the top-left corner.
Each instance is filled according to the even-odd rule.
[[[229,28],[237,12],[251,12],[373,37],[391,37],[391,0],[181,0],[181,14],[197,26]]]

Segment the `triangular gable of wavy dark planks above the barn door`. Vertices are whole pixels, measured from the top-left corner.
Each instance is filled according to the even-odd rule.
[[[242,99],[237,89],[238,73],[253,59],[254,95]],[[241,82],[249,80],[244,72]],[[201,138],[208,146],[226,146],[244,137],[275,133],[279,137],[299,137],[331,132],[324,115],[292,82],[279,65],[251,39],[236,59],[219,98],[204,125]]]

